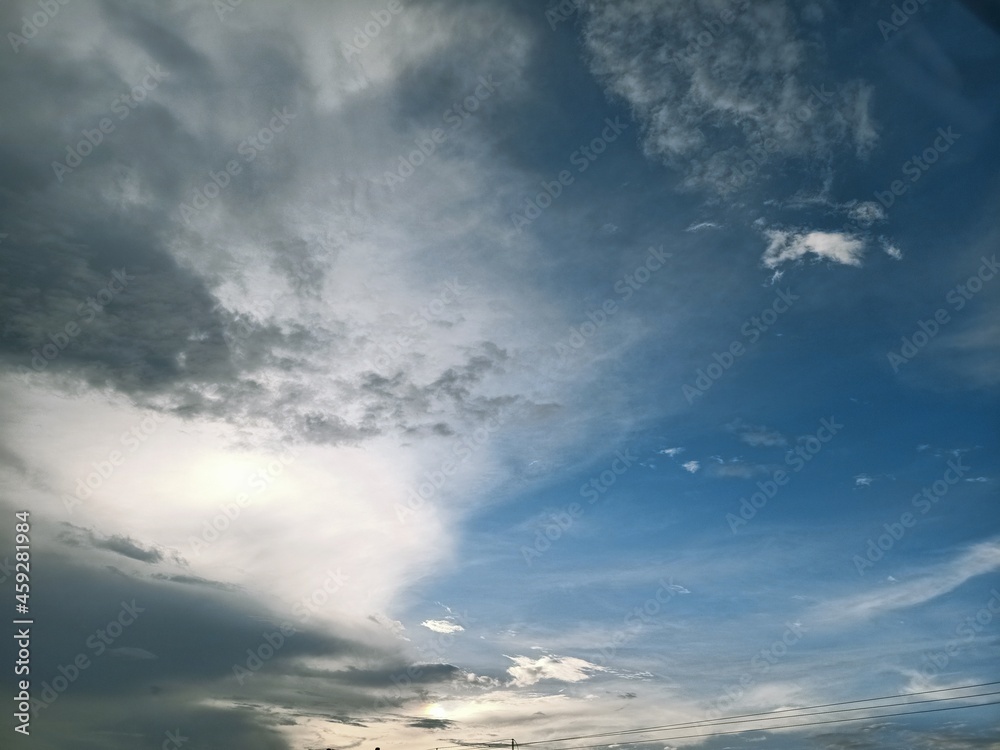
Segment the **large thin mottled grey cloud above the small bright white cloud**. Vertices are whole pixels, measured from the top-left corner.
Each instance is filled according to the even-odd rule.
[[[765,154],[761,170],[777,170],[787,158],[819,163],[851,146],[864,157],[877,140],[872,87],[813,86],[816,38],[804,38],[783,0],[605,0],[588,10],[591,69],[632,109],[646,153],[681,170],[689,187],[732,190],[752,149]]]

